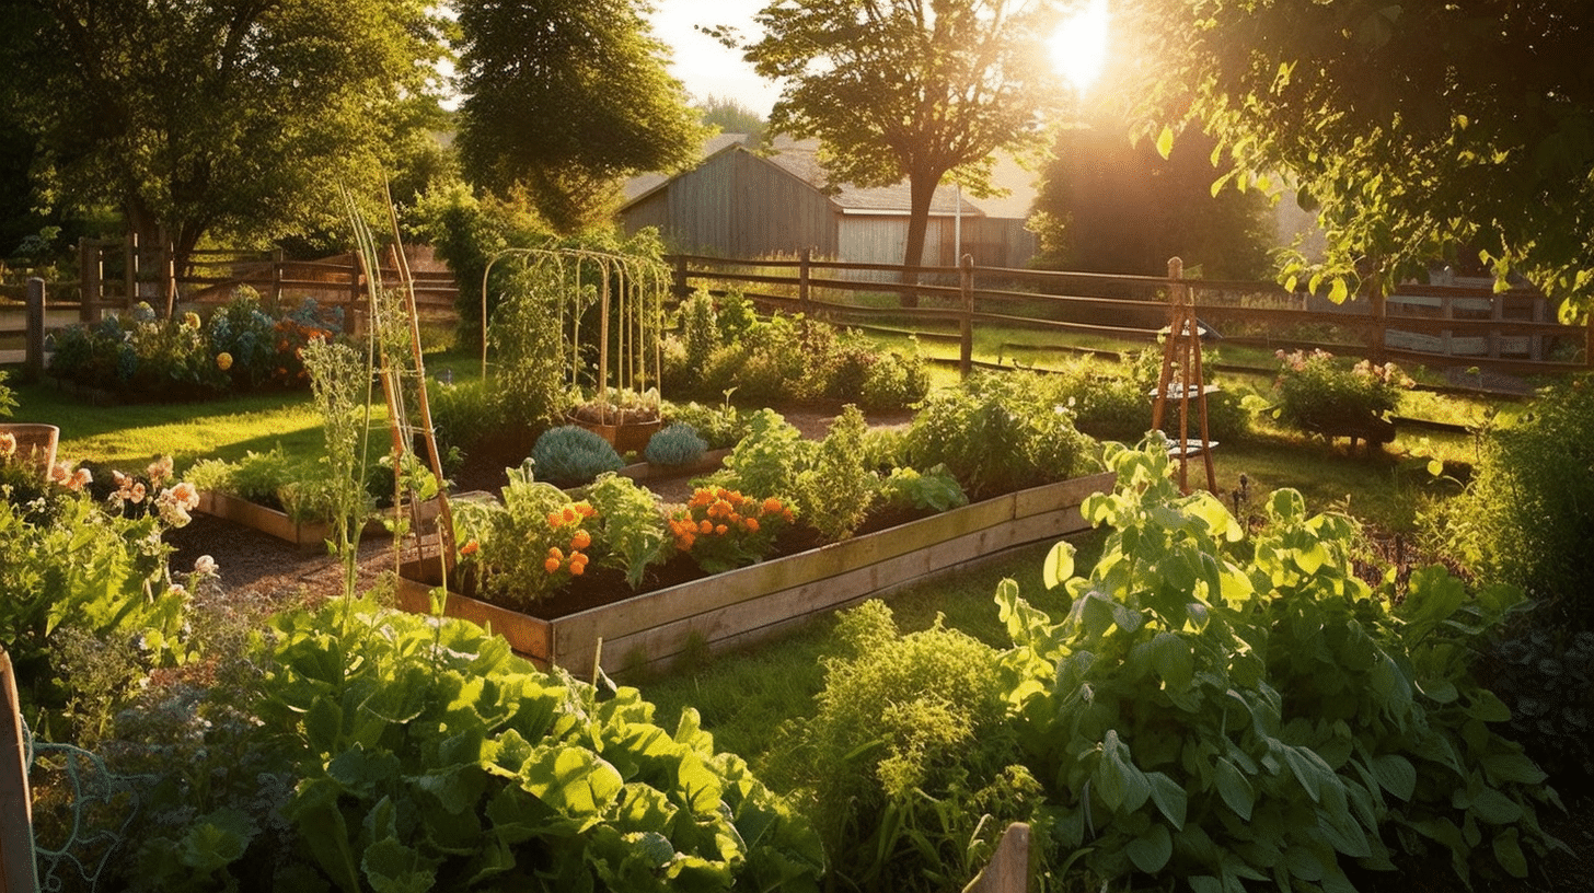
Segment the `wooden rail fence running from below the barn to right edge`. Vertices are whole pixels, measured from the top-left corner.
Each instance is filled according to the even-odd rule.
[[[972,364],[974,332],[1004,325],[1154,344],[1168,324],[1172,279],[974,266],[907,268],[917,284],[881,285],[902,266],[784,260],[669,258],[674,289],[724,293],[735,289],[765,309],[830,319],[845,325],[912,332],[960,344]],[[874,279],[866,279],[874,276]],[[1226,343],[1266,349],[1326,349],[1428,367],[1479,368],[1508,375],[1554,375],[1591,368],[1591,328],[1556,322],[1549,301],[1529,290],[1495,293],[1487,285],[1403,285],[1387,298],[1331,305],[1275,282],[1183,281],[1199,317]],[[912,295],[917,306],[901,306]]]

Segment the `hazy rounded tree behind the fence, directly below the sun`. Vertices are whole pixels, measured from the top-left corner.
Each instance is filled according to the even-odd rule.
[[[1149,140],[1127,136],[1114,110],[1058,131],[1030,217],[1038,265],[1162,276],[1180,257],[1208,279],[1264,276],[1270,206],[1256,190],[1211,195],[1211,139],[1180,140],[1162,158]]]

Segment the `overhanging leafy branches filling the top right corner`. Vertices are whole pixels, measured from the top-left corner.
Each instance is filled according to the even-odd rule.
[[[1333,293],[1466,252],[1594,295],[1594,3],[1132,0],[1151,116],[1320,207]]]

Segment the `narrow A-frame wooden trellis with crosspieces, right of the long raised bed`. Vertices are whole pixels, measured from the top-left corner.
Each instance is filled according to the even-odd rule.
[[[1184,284],[1184,262],[1168,260],[1170,324],[1162,343],[1162,373],[1152,392],[1151,427],[1164,431],[1162,419],[1170,400],[1180,407],[1180,431],[1170,439],[1168,453],[1180,461],[1180,490],[1189,493],[1188,466],[1191,456],[1200,454],[1207,466],[1207,490],[1218,491],[1218,477],[1211,467],[1211,450],[1218,443],[1207,431],[1207,394],[1216,391],[1205,381],[1200,356],[1200,321],[1196,319],[1196,303]],[[1200,440],[1191,440],[1191,402],[1196,402]]]

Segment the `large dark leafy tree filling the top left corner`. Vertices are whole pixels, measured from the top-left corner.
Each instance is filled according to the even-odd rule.
[[[333,225],[400,112],[435,107],[443,51],[426,0],[0,0],[0,21],[40,196],[120,207],[179,269],[210,233]]]

